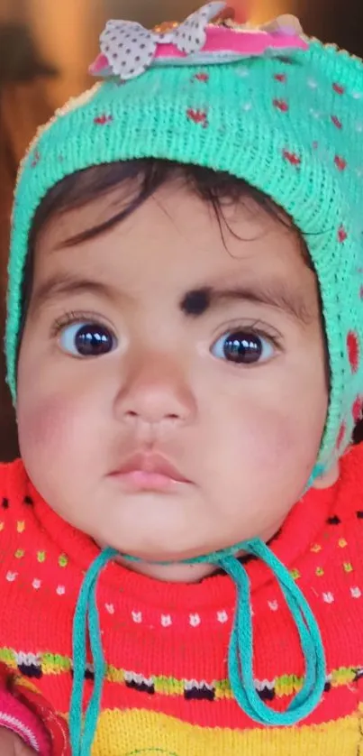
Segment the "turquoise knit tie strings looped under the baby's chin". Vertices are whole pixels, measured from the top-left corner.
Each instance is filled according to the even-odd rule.
[[[256,691],[253,676],[253,631],[250,608],[250,581],[245,568],[235,554],[245,551],[261,559],[271,569],[294,618],[304,654],[304,685],[295,695],[286,712],[269,708]],[[99,615],[96,604],[98,577],[104,567],[117,556],[114,549],[105,549],[89,567],[78,596],[73,623],[74,678],[71,696],[69,730],[73,756],[89,756],[95,738],[106,664],[102,649]],[[129,558],[131,561],[138,561]],[[259,724],[286,726],[296,724],[310,715],[319,704],[325,685],[326,669],[322,637],[309,604],[295,585],[290,573],[259,539],[238,544],[231,549],[214,552],[205,557],[187,560],[187,564],[213,563],[221,567],[237,587],[237,602],[228,667],[233,695],[240,707]],[[89,634],[95,669],[95,683],[90,702],[83,717],[83,692],[86,670],[86,636]]]

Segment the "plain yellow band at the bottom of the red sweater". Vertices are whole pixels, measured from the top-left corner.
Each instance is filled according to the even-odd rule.
[[[357,756],[363,709],[328,724],[284,729],[213,729],[148,712],[104,711],[92,756]]]

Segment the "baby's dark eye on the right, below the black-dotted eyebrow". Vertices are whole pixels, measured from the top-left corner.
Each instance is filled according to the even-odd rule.
[[[249,330],[229,331],[214,342],[211,352],[220,360],[236,364],[266,362],[274,354],[273,339]]]

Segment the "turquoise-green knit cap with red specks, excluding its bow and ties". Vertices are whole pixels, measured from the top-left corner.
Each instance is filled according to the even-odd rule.
[[[14,401],[23,270],[42,198],[69,174],[101,163],[195,163],[266,192],[303,233],[331,367],[315,474],[343,453],[363,397],[363,64],[319,41],[288,56],[184,54],[156,60],[136,78],[129,66],[128,80],[107,78],[41,130],[14,203],[5,338]]]

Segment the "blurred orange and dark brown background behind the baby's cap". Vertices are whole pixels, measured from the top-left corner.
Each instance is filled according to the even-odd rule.
[[[206,0],[205,0],[206,1]],[[17,165],[37,126],[55,107],[93,83],[88,64],[109,18],[152,27],[182,21],[204,0],[0,0],[0,330]],[[230,0],[237,14],[246,3]],[[305,32],[363,57],[362,0],[248,0],[250,19],[298,15]],[[363,438],[361,429],[358,437]],[[16,425],[0,350],[0,460],[18,453]]]

